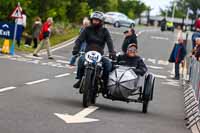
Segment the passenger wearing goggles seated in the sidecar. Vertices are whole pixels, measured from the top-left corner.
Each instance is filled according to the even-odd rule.
[[[135,67],[133,71],[140,76],[143,76],[147,72],[146,65],[140,56],[137,55],[137,45],[135,43],[129,44],[126,53],[117,57],[117,63]]]

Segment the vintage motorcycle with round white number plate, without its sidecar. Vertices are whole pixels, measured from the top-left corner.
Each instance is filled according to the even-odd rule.
[[[80,92],[83,93],[83,107],[95,104],[97,95],[104,89],[101,59],[102,55],[97,51],[89,51],[85,54],[85,71],[80,85]]]

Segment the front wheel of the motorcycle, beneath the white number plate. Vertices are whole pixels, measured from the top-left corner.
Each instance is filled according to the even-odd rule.
[[[92,71],[87,70],[85,75],[85,81],[83,83],[83,107],[88,107],[91,104],[91,79],[92,79]]]

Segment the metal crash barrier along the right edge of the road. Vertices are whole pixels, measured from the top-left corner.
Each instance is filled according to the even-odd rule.
[[[183,80],[186,126],[193,133],[200,133],[200,61],[190,57],[187,79]]]

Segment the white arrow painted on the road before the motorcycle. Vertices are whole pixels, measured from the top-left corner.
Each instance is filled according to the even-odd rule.
[[[88,108],[85,108],[81,112],[75,114],[75,115],[68,115],[68,114],[58,114],[54,113],[58,118],[62,119],[66,123],[88,123],[88,122],[95,122],[99,121],[98,119],[92,119],[92,118],[85,118],[95,110],[97,110],[98,107],[90,106]]]

